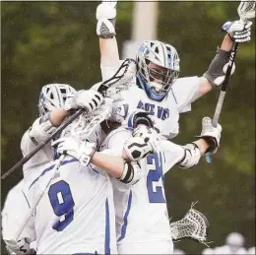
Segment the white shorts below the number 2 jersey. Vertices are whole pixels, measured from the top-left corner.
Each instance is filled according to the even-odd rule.
[[[118,254],[173,254],[172,241],[117,243]]]

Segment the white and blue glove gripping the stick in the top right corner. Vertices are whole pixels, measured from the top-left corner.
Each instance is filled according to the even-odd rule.
[[[241,43],[251,39],[251,26],[252,22],[226,22],[223,31],[228,33],[232,41]]]

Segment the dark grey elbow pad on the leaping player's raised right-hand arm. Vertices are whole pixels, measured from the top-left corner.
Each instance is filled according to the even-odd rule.
[[[230,51],[224,51],[221,48],[217,49],[216,56],[211,62],[208,70],[204,73],[204,77],[214,86],[219,87],[224,83],[224,75],[227,69],[227,62],[230,57]],[[231,70],[231,75],[235,69],[234,63]]]

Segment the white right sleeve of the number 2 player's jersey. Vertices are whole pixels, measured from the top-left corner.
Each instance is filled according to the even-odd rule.
[[[174,164],[183,159],[184,149],[168,140],[160,141],[162,152],[162,171],[166,173]]]

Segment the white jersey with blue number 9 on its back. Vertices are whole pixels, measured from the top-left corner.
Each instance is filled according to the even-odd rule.
[[[34,202],[52,175],[55,161],[29,184]],[[112,185],[92,166],[66,157],[33,218],[37,254],[116,253]]]

